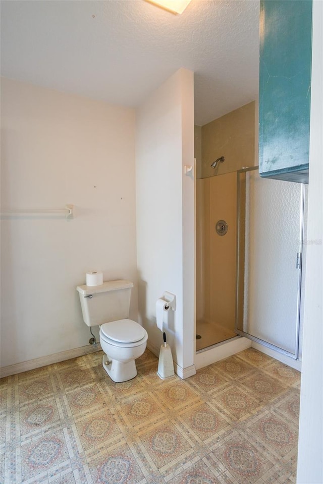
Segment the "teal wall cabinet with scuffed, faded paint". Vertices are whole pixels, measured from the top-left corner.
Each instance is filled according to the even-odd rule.
[[[312,0],[261,0],[259,174],[308,182]]]

